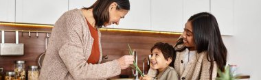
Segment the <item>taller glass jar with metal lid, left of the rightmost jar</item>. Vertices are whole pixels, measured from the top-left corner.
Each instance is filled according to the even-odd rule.
[[[15,61],[14,72],[16,72],[16,78],[18,80],[25,80],[25,61]]]

